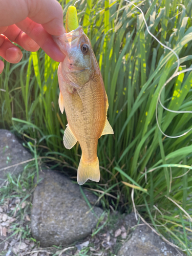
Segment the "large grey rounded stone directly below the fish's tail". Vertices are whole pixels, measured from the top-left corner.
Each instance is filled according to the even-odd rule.
[[[87,237],[96,226],[103,210],[90,211],[80,187],[64,175],[43,170],[33,196],[31,230],[41,246],[67,245]],[[96,197],[84,190],[93,204]]]

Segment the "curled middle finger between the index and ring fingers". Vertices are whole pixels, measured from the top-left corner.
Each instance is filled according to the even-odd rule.
[[[9,26],[4,32],[4,35],[27,51],[36,52],[40,48],[33,39],[20,30],[15,24]]]

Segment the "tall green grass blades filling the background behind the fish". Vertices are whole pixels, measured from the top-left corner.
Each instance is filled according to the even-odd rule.
[[[74,2],[61,2],[64,14]],[[191,170],[187,172],[192,164],[192,131],[177,139],[164,137],[155,118],[158,94],[177,67],[176,57],[147,33],[141,14],[130,4],[79,3],[79,24],[91,39],[101,69],[109,98],[108,117],[114,130],[114,136],[99,139],[101,181],[86,186],[115,196],[118,200],[104,194],[102,205],[109,208],[111,204],[122,211],[129,210],[127,205],[132,207],[132,187],[121,181],[138,186],[139,189],[134,188],[134,202],[140,214],[191,255],[192,228],[186,212],[192,216],[192,176]],[[144,11],[150,31],[179,55],[180,70],[189,68],[192,2],[134,3]],[[67,119],[58,106],[58,63],[40,50],[23,53],[23,60],[16,65],[6,63],[0,76],[0,126],[26,134],[33,150],[48,157],[55,168],[77,168],[80,147],[77,144],[69,151],[62,143]],[[171,80],[161,96],[166,108],[191,110],[191,83],[192,72]],[[191,118],[189,113],[158,109],[161,129],[170,136],[190,129]],[[72,176],[75,174],[72,169]]]

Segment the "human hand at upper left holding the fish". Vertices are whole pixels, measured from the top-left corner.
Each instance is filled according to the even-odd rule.
[[[10,63],[22,59],[22,51],[12,44],[13,41],[31,52],[41,47],[52,59],[63,61],[65,55],[51,36],[65,33],[62,7],[56,0],[0,2],[0,56]],[[3,69],[4,62],[0,60],[0,74]]]

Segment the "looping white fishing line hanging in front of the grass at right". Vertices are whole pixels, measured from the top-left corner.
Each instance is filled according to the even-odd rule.
[[[160,92],[159,92],[159,95],[158,95],[157,104],[156,104],[156,121],[157,121],[157,125],[158,125],[158,128],[159,128],[160,132],[161,132],[164,136],[166,136],[166,137],[168,137],[168,138],[179,138],[179,137],[182,137],[182,136],[186,135],[187,133],[189,133],[189,132],[192,130],[192,127],[191,127],[191,129],[189,129],[187,132],[185,132],[185,133],[183,133],[183,134],[181,134],[181,135],[179,135],[179,136],[168,136],[168,135],[166,135],[165,133],[163,133],[163,131],[161,130],[161,127],[160,127],[160,125],[159,125],[159,121],[158,121],[158,104],[160,103],[160,105],[162,106],[162,108],[163,108],[164,110],[168,111],[168,112],[177,113],[177,114],[180,114],[180,113],[192,113],[192,111],[175,111],[175,110],[169,110],[169,109],[165,108],[165,106],[164,106],[164,105],[162,104],[162,102],[161,102],[161,93],[162,93],[163,89],[165,88],[165,86],[167,85],[167,83],[170,82],[170,80],[172,80],[174,77],[176,77],[176,76],[178,76],[178,75],[180,75],[180,74],[182,74],[182,73],[185,73],[185,72],[188,72],[188,71],[192,71],[192,68],[184,69],[184,70],[178,72],[179,67],[180,67],[180,59],[179,59],[179,56],[177,55],[177,53],[176,53],[172,48],[170,48],[170,47],[168,47],[168,46],[165,46],[161,41],[159,41],[159,39],[157,39],[157,37],[155,37],[155,36],[150,32],[150,30],[148,29],[147,23],[146,23],[146,19],[145,19],[145,17],[144,17],[144,13],[143,13],[143,11],[142,11],[138,6],[134,5],[133,3],[131,3],[131,2],[128,1],[128,0],[124,0],[124,1],[127,2],[127,3],[130,3],[131,5],[135,6],[137,9],[139,9],[139,11],[142,13],[143,20],[144,20],[144,23],[145,23],[147,32],[148,32],[161,46],[163,46],[164,48],[166,48],[166,49],[168,49],[169,51],[173,52],[173,53],[175,54],[175,56],[177,57],[177,68],[176,68],[174,74],[173,74],[172,76],[170,76],[169,79],[163,84],[163,86],[162,86],[162,88],[161,88],[161,90],[160,90]]]

